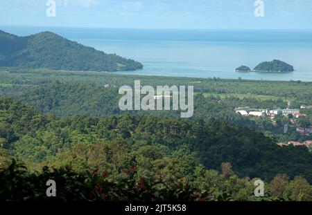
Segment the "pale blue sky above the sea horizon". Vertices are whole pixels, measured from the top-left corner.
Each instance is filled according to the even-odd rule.
[[[312,29],[311,0],[1,0],[0,25],[99,28]]]

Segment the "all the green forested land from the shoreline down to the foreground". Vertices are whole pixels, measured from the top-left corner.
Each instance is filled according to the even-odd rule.
[[[44,199],[42,178],[49,176],[64,184],[60,199],[69,200],[259,200],[253,193],[257,178],[266,181],[261,199],[312,200],[309,148],[276,144],[311,137],[295,127],[284,133],[287,117],[272,122],[234,111],[309,105],[309,82],[60,71],[0,75],[1,199]],[[179,111],[120,111],[119,87],[134,80],[193,85],[193,118],[182,120]],[[302,113],[295,125],[311,125],[311,109]],[[33,189],[22,189],[22,181]],[[72,189],[81,195],[74,197]]]

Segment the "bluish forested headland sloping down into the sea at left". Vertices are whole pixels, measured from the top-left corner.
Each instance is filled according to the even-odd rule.
[[[134,71],[139,62],[70,41],[53,32],[17,37],[0,30],[0,67],[66,71]]]

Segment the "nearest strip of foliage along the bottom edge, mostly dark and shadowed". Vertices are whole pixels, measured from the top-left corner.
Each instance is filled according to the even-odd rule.
[[[265,195],[254,196],[254,182],[257,178],[237,177],[229,163],[223,163],[222,173],[196,167],[193,183],[187,185],[180,180],[168,186],[161,180],[153,183],[137,179],[135,167],[123,169],[122,180],[110,180],[109,174],[98,173],[98,169],[77,173],[70,167],[61,169],[44,167],[42,171],[31,173],[15,160],[6,169],[0,169],[1,201],[50,200],[46,197],[47,180],[57,180],[57,196],[53,201],[232,201],[232,200],[312,200],[312,187],[301,176],[289,180],[285,174],[279,174],[265,184]],[[26,186],[25,186],[26,185]]]

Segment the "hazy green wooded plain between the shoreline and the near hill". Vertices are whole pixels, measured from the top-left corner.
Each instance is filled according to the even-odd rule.
[[[193,119],[227,120],[232,124],[261,131],[277,141],[311,140],[311,137],[296,133],[295,126],[309,127],[312,114],[295,124],[289,124],[287,117],[246,118],[236,114],[239,106],[251,109],[299,109],[301,104],[310,104],[312,84],[309,82],[266,82],[249,80],[220,80],[218,78],[148,77],[137,75],[112,75],[109,73],[73,72],[0,72],[0,94],[13,97],[34,106],[42,113],[52,113],[57,118],[90,115],[95,117],[120,114],[118,106],[120,86],[142,85],[193,85],[195,110]],[[179,111],[132,111],[131,113],[162,115],[177,118]],[[284,124],[289,132],[284,133]]]

